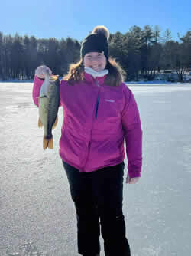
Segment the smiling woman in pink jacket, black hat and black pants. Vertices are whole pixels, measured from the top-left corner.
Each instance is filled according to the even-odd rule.
[[[123,83],[121,67],[108,59],[108,36],[107,28],[95,27],[83,41],[81,60],[70,65],[60,82],[64,110],[60,157],[76,207],[78,251],[83,256],[99,255],[100,226],[106,256],[131,255],[122,212],[124,141],[126,182],[136,183],[141,176],[138,107]],[[35,72],[33,97],[37,106],[47,69],[40,66]]]

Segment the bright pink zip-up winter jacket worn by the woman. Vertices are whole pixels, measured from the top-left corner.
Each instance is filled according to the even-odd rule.
[[[84,75],[85,80],[74,85],[60,82],[61,159],[81,172],[115,166],[125,159],[125,140],[129,176],[141,176],[142,130],[134,95],[124,83],[108,86],[105,77]],[[37,107],[42,84],[34,77]]]

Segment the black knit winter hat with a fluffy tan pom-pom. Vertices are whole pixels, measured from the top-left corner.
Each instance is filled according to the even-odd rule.
[[[86,36],[81,46],[81,57],[84,57],[88,52],[96,51],[103,52],[108,59],[108,38],[109,31],[105,26],[96,26],[92,33]]]

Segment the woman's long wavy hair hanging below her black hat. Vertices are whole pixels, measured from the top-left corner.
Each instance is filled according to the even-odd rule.
[[[108,69],[108,75],[105,78],[106,85],[118,86],[124,81],[125,71],[122,69],[120,64],[115,61],[115,59],[110,57],[105,68]],[[68,81],[70,85],[84,80],[84,66],[82,58],[76,64],[70,64],[69,72],[63,77],[63,80]]]

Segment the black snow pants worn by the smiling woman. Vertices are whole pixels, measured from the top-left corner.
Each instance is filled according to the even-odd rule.
[[[99,255],[101,225],[105,256],[130,256],[122,212],[124,162],[94,172],[63,166],[76,207],[79,254]]]

